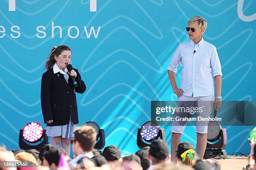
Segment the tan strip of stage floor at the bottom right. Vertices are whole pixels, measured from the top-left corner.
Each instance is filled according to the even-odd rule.
[[[227,159],[215,159],[220,163],[221,170],[242,170],[248,164],[246,156],[228,156]]]

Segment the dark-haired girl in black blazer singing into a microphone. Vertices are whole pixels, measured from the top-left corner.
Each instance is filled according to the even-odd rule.
[[[54,47],[46,62],[46,72],[41,80],[41,107],[46,135],[51,137],[51,145],[64,148],[70,154],[70,138],[74,137],[75,124],[78,123],[76,93],[86,90],[78,70],[68,72],[71,49],[66,45]],[[74,76],[77,87],[72,81]]]

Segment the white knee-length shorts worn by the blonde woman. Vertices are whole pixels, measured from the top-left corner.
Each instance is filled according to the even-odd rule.
[[[195,107],[195,106],[202,107],[203,106],[203,113],[197,112],[197,117],[198,116],[210,117],[214,100],[215,100],[214,94],[209,95],[209,96],[202,96],[202,97],[193,97],[193,94],[191,97],[183,95],[183,96],[179,97],[178,106],[182,105],[182,101],[191,101],[191,102],[185,102],[186,107],[187,107],[187,105],[189,105],[189,107]],[[204,101],[204,102],[202,102],[202,101]],[[209,102],[205,102],[205,101],[209,101]],[[172,132],[182,134],[186,128],[187,122],[182,121],[182,125],[181,125],[180,122],[176,121],[176,119],[175,119],[176,116],[182,117],[180,113],[176,113],[176,114],[174,113]],[[208,128],[207,122],[204,121],[204,125],[200,125],[200,122],[198,122],[198,121],[196,122],[195,131],[197,133],[207,133],[207,128]]]

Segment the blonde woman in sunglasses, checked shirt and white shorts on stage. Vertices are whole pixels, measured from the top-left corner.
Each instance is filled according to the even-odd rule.
[[[210,116],[212,106],[218,110],[221,105],[221,65],[216,47],[206,42],[202,35],[207,28],[207,22],[200,16],[195,16],[188,22],[186,28],[189,41],[179,44],[172,56],[172,60],[168,66],[168,75],[172,85],[173,92],[179,98],[179,103],[189,101],[195,106],[204,107],[203,117]],[[175,72],[177,67],[182,63],[182,80],[181,88],[178,88]],[[215,80],[215,87],[214,87]],[[214,95],[215,91],[215,95]],[[202,102],[208,101],[208,102]],[[197,112],[197,116],[198,116]],[[174,117],[178,113],[174,113]],[[207,144],[207,122],[204,125],[198,125],[197,121],[197,154],[202,159]],[[181,143],[181,135],[187,122],[176,122],[174,119],[172,126],[172,145],[171,158],[177,163],[176,153],[179,143]]]

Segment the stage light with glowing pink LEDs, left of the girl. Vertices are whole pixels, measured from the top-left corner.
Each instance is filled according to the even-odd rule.
[[[41,147],[48,144],[48,136],[46,136],[46,130],[38,122],[29,122],[20,130],[19,134],[19,146],[20,149],[40,150]]]

